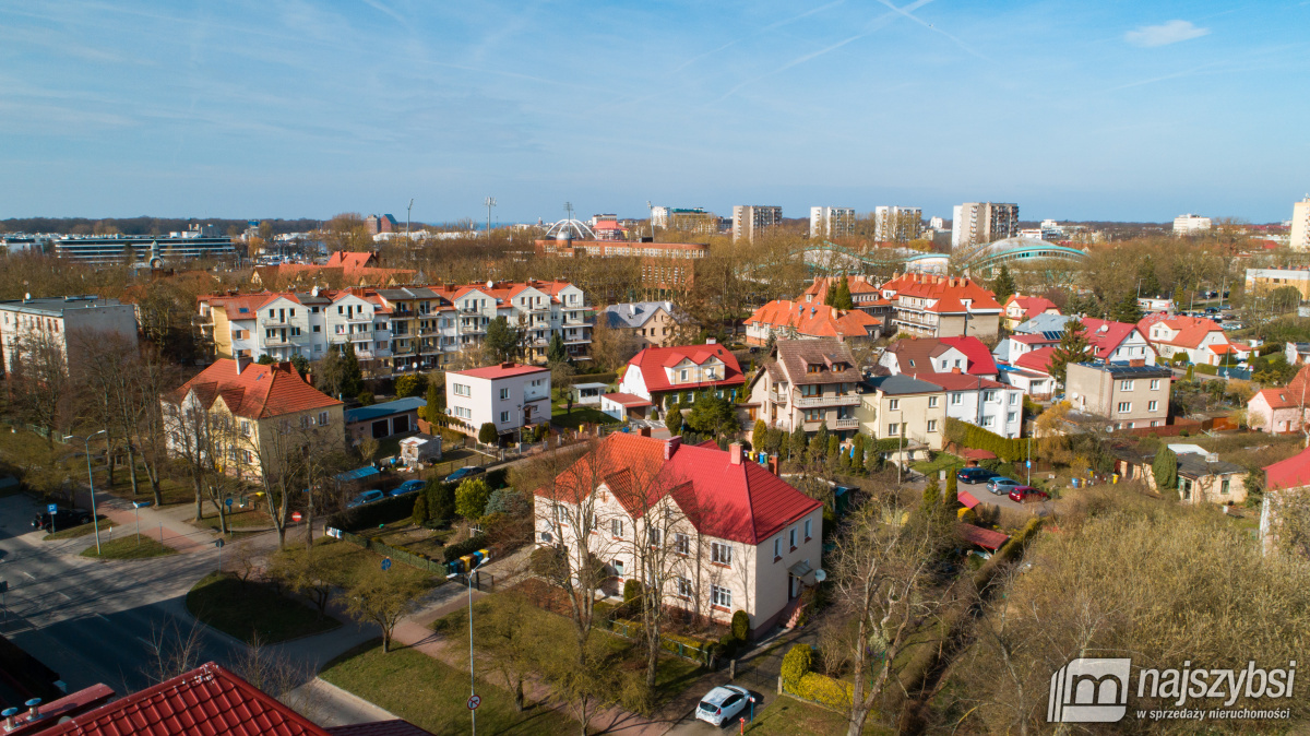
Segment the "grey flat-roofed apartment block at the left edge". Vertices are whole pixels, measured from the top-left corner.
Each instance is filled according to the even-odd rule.
[[[9,371],[24,350],[56,348],[66,361],[96,335],[114,334],[136,347],[136,308],[94,295],[8,299],[0,301],[0,371]]]

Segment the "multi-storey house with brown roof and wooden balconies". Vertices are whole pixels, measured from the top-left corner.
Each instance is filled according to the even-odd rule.
[[[841,439],[855,435],[859,381],[850,346],[837,340],[778,340],[751,381],[751,405],[770,427],[817,432]]]

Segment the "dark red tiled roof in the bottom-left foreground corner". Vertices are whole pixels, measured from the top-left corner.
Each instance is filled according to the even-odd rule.
[[[42,731],[45,736],[329,736],[214,664]]]

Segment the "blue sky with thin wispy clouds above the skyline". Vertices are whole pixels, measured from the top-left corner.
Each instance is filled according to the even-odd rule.
[[[1284,220],[1310,0],[0,4],[0,217]]]

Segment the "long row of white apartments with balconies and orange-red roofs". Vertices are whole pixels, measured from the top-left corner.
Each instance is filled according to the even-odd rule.
[[[486,282],[403,288],[211,295],[199,300],[199,326],[220,358],[322,358],[351,343],[371,372],[441,368],[481,344],[504,317],[527,334],[529,360],[545,360],[554,334],[586,359],[591,309],[567,282]]]

